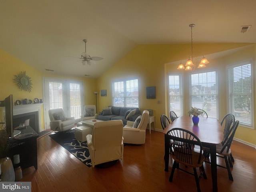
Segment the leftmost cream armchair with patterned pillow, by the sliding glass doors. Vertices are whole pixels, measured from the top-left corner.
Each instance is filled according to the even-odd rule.
[[[74,127],[74,117],[66,117],[63,109],[50,109],[50,128],[53,131],[66,131]]]

